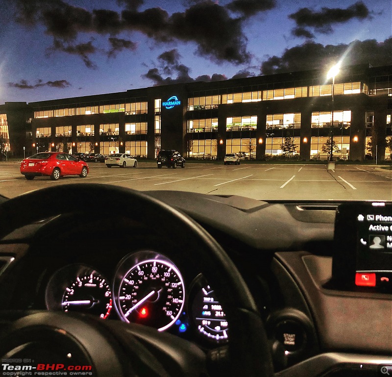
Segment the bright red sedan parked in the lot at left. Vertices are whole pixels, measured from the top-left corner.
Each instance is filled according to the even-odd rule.
[[[29,180],[35,176],[50,176],[53,180],[59,179],[60,176],[72,175],[84,178],[89,173],[89,166],[71,154],[40,152],[22,161],[21,173]]]

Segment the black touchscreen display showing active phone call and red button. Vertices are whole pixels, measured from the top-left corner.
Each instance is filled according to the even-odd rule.
[[[392,204],[344,203],[335,221],[332,275],[357,287],[392,288]]]

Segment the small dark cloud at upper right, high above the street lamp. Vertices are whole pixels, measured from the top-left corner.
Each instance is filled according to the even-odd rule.
[[[364,20],[371,18],[371,15],[368,7],[362,1],[357,1],[346,9],[322,7],[321,11],[317,12],[310,8],[301,8],[289,15],[289,18],[293,19],[297,25],[292,34],[309,38],[311,33],[306,34],[306,27],[313,28],[322,34],[329,34],[332,33],[334,24],[342,24],[355,18]]]

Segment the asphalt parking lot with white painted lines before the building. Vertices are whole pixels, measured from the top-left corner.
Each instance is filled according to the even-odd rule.
[[[14,197],[58,184],[109,183],[135,190],[180,190],[217,195],[243,195],[265,200],[392,200],[392,171],[367,165],[187,163],[184,169],[157,169],[139,161],[137,168],[107,169],[89,163],[86,178],[67,176],[59,181],[36,177],[27,181],[19,163],[0,164],[0,194]]]

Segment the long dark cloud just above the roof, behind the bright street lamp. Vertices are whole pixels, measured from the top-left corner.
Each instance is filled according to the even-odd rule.
[[[390,65],[392,61],[392,38],[384,42],[375,39],[354,41],[349,45],[327,45],[306,42],[286,49],[282,56],[271,56],[261,65],[262,75],[275,73],[327,69],[332,62],[342,65],[368,64],[373,66]]]

